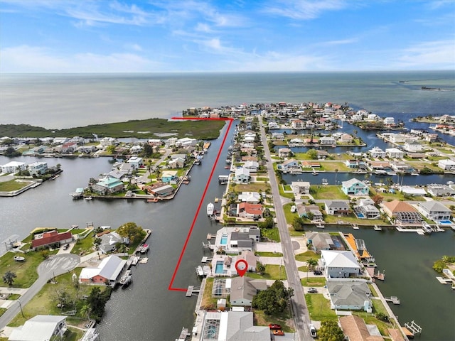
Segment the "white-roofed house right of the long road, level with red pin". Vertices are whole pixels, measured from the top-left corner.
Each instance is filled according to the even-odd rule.
[[[360,265],[351,251],[321,250],[321,265],[328,280],[360,275]]]

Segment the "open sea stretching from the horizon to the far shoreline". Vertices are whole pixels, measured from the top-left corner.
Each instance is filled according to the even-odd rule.
[[[404,121],[455,113],[453,91],[422,86],[455,90],[455,71],[3,74],[0,122],[62,129],[271,102],[347,102]]]

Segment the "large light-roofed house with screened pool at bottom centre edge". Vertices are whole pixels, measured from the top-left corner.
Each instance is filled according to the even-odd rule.
[[[210,311],[203,314],[200,340],[270,341],[269,327],[255,326],[251,311]],[[215,338],[213,335],[217,335]]]

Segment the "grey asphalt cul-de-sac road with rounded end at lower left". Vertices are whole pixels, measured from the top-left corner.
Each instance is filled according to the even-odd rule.
[[[18,313],[21,313],[23,306],[36,296],[50,278],[75,269],[79,262],[80,257],[75,254],[55,254],[43,261],[38,266],[38,279],[35,283],[28,288],[26,293],[24,293],[14,305],[11,305],[11,307],[0,316],[0,330],[5,328]]]

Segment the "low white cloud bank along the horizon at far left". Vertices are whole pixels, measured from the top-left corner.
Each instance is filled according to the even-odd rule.
[[[133,53],[54,55],[47,48],[21,45],[0,50],[0,72],[156,72],[167,65]]]

